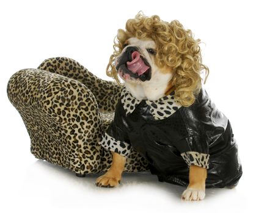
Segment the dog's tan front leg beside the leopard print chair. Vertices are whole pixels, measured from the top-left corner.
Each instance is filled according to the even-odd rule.
[[[112,152],[112,164],[108,172],[100,176],[96,180],[96,186],[114,187],[120,183],[122,172],[125,168],[126,158],[118,153]]]

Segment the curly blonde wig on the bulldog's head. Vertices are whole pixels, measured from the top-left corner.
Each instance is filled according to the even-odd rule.
[[[171,68],[174,74],[170,83],[175,87],[175,98],[183,106],[192,105],[202,87],[201,72],[205,71],[204,83],[209,74],[207,66],[202,64],[200,40],[194,40],[191,30],[185,30],[177,20],[167,23],[157,15],[147,17],[141,12],[134,19],[128,19],[125,29],[119,29],[115,37],[114,52],[106,74],[122,85],[114,60],[122,52],[125,41],[131,37],[153,40],[156,43],[156,65]]]

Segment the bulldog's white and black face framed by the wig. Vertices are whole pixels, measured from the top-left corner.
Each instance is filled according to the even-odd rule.
[[[115,59],[115,68],[125,85],[138,99],[158,99],[164,95],[172,78],[169,69],[155,63],[156,44],[153,40],[129,38]]]

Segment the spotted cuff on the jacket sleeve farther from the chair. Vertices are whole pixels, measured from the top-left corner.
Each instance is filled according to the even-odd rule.
[[[188,166],[195,165],[209,169],[210,155],[208,154],[203,154],[200,152],[183,152],[181,153],[181,156]]]

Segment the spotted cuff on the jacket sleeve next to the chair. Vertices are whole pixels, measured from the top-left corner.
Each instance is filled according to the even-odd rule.
[[[131,152],[130,144],[123,141],[118,141],[112,138],[107,133],[103,134],[102,139],[99,143],[107,150],[119,153],[119,155],[122,155],[123,157],[130,155],[130,152]]]

